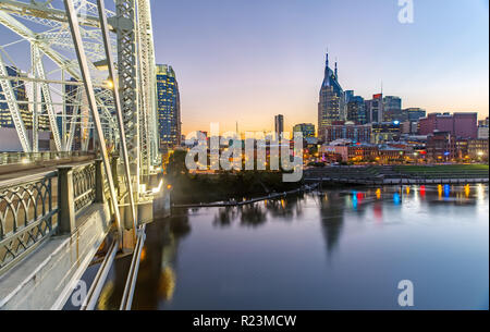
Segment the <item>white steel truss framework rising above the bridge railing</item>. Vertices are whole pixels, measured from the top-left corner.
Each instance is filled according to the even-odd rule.
[[[103,16],[97,0],[69,1],[0,0],[0,24],[5,28],[0,33],[0,102],[7,104],[25,152],[38,151],[40,130],[51,132],[57,151],[71,151],[87,150],[90,137],[99,135],[89,109],[94,98],[107,144],[102,150],[124,149],[121,155],[126,153],[132,176],[128,188],[137,193],[160,161],[149,0],[108,0]],[[70,27],[74,20],[69,20],[65,3],[73,5],[87,73],[82,71]],[[110,73],[110,65],[115,73]],[[90,78],[88,94],[84,74]],[[119,94],[113,94],[114,86]],[[40,127],[41,120],[48,128]]]

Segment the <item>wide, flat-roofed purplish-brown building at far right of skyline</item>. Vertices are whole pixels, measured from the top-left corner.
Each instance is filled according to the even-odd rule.
[[[419,134],[429,135],[434,132],[449,132],[456,138],[478,137],[478,113],[430,113],[419,121]]]

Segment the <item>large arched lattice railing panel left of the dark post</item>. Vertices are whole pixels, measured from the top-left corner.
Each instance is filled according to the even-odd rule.
[[[57,173],[0,184],[0,274],[53,231]]]

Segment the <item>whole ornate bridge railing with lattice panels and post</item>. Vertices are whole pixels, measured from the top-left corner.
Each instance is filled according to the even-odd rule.
[[[107,199],[101,160],[0,182],[0,275],[54,233],[72,234],[75,217]]]

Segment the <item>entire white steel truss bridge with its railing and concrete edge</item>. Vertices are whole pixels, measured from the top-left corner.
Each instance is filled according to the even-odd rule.
[[[0,50],[22,147],[0,153],[0,309],[62,308],[96,257],[94,309],[114,259],[133,255],[131,309],[145,224],[168,206],[150,0],[0,0]]]

